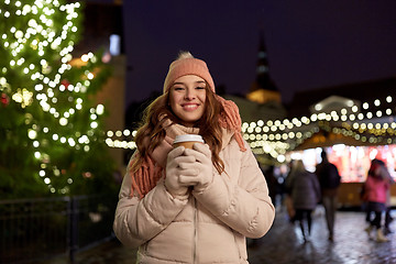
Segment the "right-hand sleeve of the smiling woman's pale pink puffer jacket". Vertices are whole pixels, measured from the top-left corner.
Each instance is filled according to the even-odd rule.
[[[231,229],[248,238],[261,238],[270,230],[275,209],[257,161],[246,143],[245,146],[239,172],[219,175],[213,169],[213,182],[193,195]]]

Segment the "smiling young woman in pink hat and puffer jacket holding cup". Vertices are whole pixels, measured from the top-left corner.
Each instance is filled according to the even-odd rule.
[[[205,144],[173,148],[179,134]],[[263,237],[275,211],[238,108],[215,94],[204,61],[170,64],[135,142],[114,232],[139,246],[138,263],[248,263],[245,238]]]

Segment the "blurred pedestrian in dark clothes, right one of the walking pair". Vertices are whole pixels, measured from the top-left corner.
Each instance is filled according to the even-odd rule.
[[[337,211],[337,195],[338,188],[341,183],[341,176],[337,166],[329,162],[326,150],[322,150],[321,163],[316,167],[316,175],[318,176],[321,201],[324,208],[326,223],[329,232],[329,240],[333,241],[334,238],[334,222]]]

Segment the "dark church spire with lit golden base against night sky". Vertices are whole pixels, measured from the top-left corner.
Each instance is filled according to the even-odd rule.
[[[256,79],[252,84],[246,98],[258,103],[273,101],[282,103],[280,92],[268,74],[268,58],[263,33],[261,33],[258,44]]]

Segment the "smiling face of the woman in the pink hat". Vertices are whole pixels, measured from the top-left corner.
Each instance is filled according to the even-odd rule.
[[[204,114],[206,96],[206,82],[201,77],[182,76],[170,87],[170,108],[184,125],[193,127]]]

